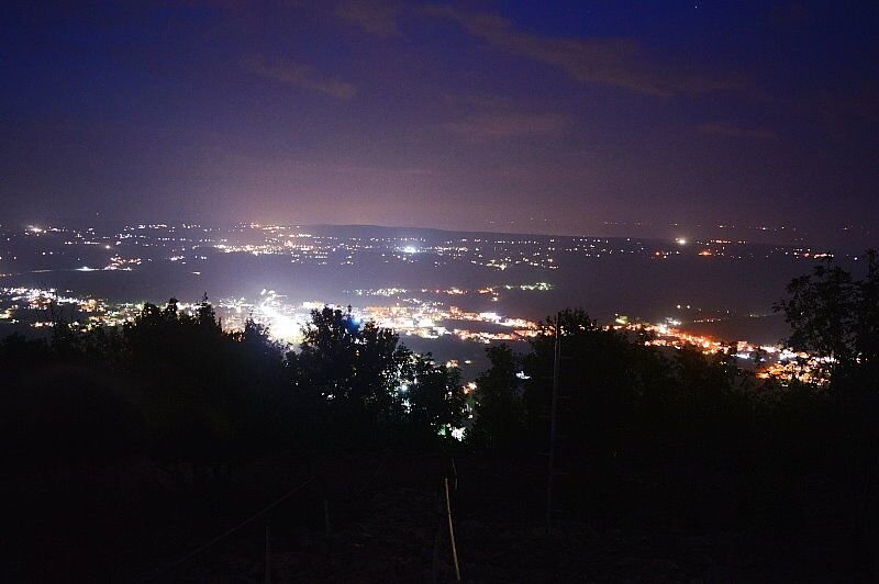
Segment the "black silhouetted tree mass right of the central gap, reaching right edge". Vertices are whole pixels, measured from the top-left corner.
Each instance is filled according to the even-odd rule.
[[[863,573],[877,536],[879,480],[869,258],[866,280],[834,269],[832,283],[819,280],[817,290],[794,281],[786,301],[797,307],[791,323],[794,339],[806,339],[801,347],[847,355],[830,385],[759,381],[726,353],[646,346],[642,335],[565,311],[547,319],[526,355],[489,349],[472,443],[546,450],[558,332],[555,460],[564,479],[555,488],[567,518],[824,538],[834,562]]]

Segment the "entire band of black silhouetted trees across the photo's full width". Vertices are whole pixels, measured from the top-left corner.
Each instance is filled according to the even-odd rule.
[[[524,355],[488,349],[467,446],[505,471],[547,449],[558,342],[555,460],[565,479],[555,501],[566,519],[733,530],[790,542],[791,557],[805,559],[821,541],[834,565],[864,575],[879,519],[876,254],[866,263],[863,280],[821,266],[791,282],[779,305],[794,347],[833,353],[830,384],[758,381],[731,351],[657,348],[646,333],[604,329],[568,310]],[[136,461],[191,488],[199,476],[216,482],[224,469],[271,457],[448,451],[465,412],[456,369],[349,311],[314,311],[291,351],[252,321],[224,333],[207,297],[193,315],[174,299],[147,304],[118,330],[82,334],[58,321],[46,340],[7,337],[0,388],[5,469],[20,478],[9,484],[37,493],[51,483],[65,502],[71,476]],[[528,462],[522,476],[532,478],[498,486],[498,496],[532,497],[544,472]],[[216,496],[222,485],[199,492]]]

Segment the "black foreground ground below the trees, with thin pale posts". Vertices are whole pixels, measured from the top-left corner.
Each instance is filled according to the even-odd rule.
[[[465,581],[876,574],[869,551],[876,531],[858,529],[857,493],[854,503],[822,501],[820,476],[797,479],[803,499],[786,502],[766,499],[771,493],[756,484],[759,478],[730,471],[665,468],[646,475],[621,467],[613,481],[601,481],[602,491],[590,490],[588,476],[568,476],[547,529],[545,457],[452,461],[386,450],[311,463],[272,458],[224,476],[143,464],[18,478],[19,492],[5,491],[14,508],[4,515],[2,576],[257,582],[268,561],[275,581],[454,581],[444,479]],[[571,486],[577,497],[565,492]]]

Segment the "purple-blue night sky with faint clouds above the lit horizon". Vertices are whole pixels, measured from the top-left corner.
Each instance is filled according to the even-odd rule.
[[[725,224],[876,245],[879,2],[2,10],[0,223]]]

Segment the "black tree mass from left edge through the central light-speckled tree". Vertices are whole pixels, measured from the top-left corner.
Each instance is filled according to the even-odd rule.
[[[137,457],[219,468],[391,431],[438,445],[460,422],[456,372],[342,311],[315,311],[301,351],[285,351],[253,321],[224,333],[207,296],[193,315],[175,299],[146,304],[121,330],[59,322],[51,340],[7,337],[7,454],[44,469]]]

